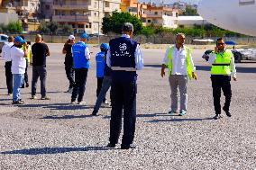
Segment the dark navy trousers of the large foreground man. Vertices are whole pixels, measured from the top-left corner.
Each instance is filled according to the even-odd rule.
[[[110,138],[112,144],[118,142],[122,126],[123,114],[123,139],[122,145],[129,146],[133,143],[136,122],[136,82],[118,83],[112,81],[111,85],[111,120]]]

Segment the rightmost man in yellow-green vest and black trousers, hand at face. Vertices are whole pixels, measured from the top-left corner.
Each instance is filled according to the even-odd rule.
[[[232,97],[230,81],[231,77],[233,77],[233,80],[236,81],[236,69],[234,65],[233,53],[231,50],[225,49],[223,38],[217,39],[215,51],[210,54],[208,62],[212,65],[211,80],[215,105],[214,119],[217,120],[221,118],[220,98],[222,90],[225,96],[223,110],[228,117],[231,117],[231,113],[229,112]]]

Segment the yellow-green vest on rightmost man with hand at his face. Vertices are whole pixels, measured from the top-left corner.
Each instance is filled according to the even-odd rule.
[[[223,55],[216,53],[215,62],[212,63],[212,75],[230,75],[231,74],[232,51],[225,50]]]

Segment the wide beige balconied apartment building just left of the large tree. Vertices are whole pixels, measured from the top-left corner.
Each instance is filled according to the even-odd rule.
[[[95,34],[101,31],[103,17],[120,11],[120,4],[120,0],[54,0],[52,21]]]

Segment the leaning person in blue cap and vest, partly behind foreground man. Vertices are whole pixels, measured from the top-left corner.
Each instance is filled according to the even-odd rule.
[[[109,49],[109,46],[106,43],[102,43],[100,45],[100,49],[101,49],[101,52],[99,52],[96,56],[96,60],[98,60],[97,72],[99,72],[99,73],[97,73],[97,75],[100,75],[100,76],[103,75],[103,80],[102,80],[102,85],[100,86],[99,94],[97,95],[97,98],[96,98],[96,104],[94,107],[94,111],[92,112],[92,115],[94,115],[94,116],[96,116],[96,113],[98,112],[98,110],[101,106],[101,103],[108,104],[107,101],[105,100],[105,94],[107,93],[107,91],[111,85],[111,82],[112,82],[112,78],[110,76],[111,68],[108,67],[105,62],[105,56],[106,56],[107,50]],[[98,66],[100,66],[100,70],[98,70],[99,69]],[[102,70],[102,68],[104,68],[104,70]],[[98,80],[98,82],[99,82],[99,80]],[[97,85],[97,86],[99,86],[99,85]]]

